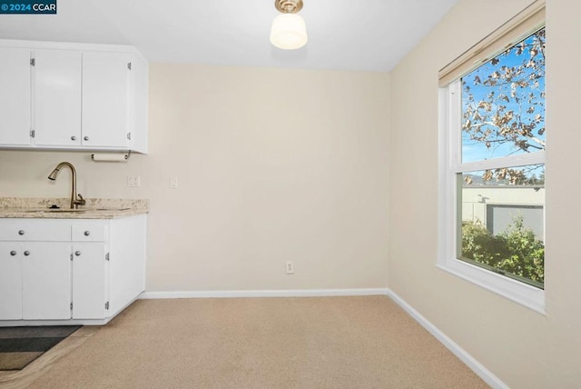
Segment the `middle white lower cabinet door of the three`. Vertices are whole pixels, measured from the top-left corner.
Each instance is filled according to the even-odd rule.
[[[71,318],[71,244],[23,243],[25,320]]]

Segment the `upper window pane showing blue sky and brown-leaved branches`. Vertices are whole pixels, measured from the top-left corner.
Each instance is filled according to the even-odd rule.
[[[545,149],[545,29],[465,75],[462,162]]]

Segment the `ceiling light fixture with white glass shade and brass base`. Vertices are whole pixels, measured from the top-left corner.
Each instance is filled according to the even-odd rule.
[[[307,43],[305,20],[297,15],[302,0],[274,0],[274,6],[282,15],[272,21],[271,44],[284,50],[294,50]]]

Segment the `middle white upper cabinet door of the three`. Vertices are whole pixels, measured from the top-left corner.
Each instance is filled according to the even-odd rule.
[[[34,145],[81,145],[81,52],[34,52]]]

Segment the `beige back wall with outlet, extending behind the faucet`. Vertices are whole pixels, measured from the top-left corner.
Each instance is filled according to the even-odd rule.
[[[150,198],[148,291],[386,287],[389,75],[154,64],[149,118],[128,164],[1,150],[0,196],[66,196],[66,160],[84,196]]]

